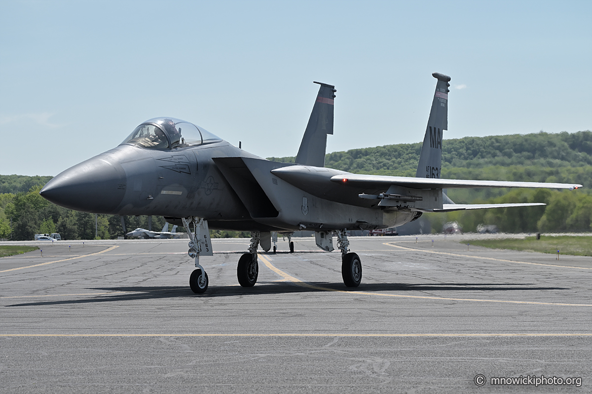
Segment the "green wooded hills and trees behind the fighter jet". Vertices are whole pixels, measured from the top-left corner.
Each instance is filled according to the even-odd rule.
[[[326,155],[326,167],[362,174],[414,176],[421,144],[352,149]],[[294,162],[294,157],[270,158]],[[582,190],[478,188],[451,189],[461,204],[542,202],[543,207],[457,211],[426,214],[439,232],[456,221],[465,232],[478,224],[496,224],[504,232],[592,230],[592,132],[533,133],[445,140],[442,177],[450,179],[580,183]],[[121,217],[95,215],[56,206],[39,195],[52,177],[0,175],[0,238],[30,240],[36,233],[60,233],[63,239],[112,239],[124,236]],[[148,228],[146,216],[124,216],[126,230]],[[160,231],[162,217],[153,217]],[[179,232],[185,231],[178,229]],[[250,236],[247,232],[215,230],[212,237]]]

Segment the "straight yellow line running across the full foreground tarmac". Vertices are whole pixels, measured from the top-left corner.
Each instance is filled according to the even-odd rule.
[[[590,337],[589,333],[478,333],[478,334],[0,334],[0,337]]]

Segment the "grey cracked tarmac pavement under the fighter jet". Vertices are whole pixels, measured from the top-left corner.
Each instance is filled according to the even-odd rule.
[[[187,240],[1,258],[0,392],[592,392],[592,258],[350,238],[351,289],[337,251],[294,241],[260,253],[242,288],[249,240],[213,240],[204,295],[188,286]],[[527,375],[581,386],[491,385]]]

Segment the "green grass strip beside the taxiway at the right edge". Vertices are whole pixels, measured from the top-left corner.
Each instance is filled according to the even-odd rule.
[[[524,239],[470,239],[462,241],[465,245],[470,243],[475,246],[484,246],[493,249],[525,250],[526,252],[553,253],[573,256],[592,256],[591,236],[540,236],[526,237]]]

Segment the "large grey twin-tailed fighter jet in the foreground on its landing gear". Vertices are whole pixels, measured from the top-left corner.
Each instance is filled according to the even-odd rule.
[[[320,84],[294,163],[260,158],[191,122],[154,118],[141,123],[116,148],[63,171],[40,191],[62,207],[90,213],[160,215],[183,225],[191,237],[192,291],[208,288],[200,256],[211,256],[209,229],[252,232],[239,259],[242,286],[255,285],[257,250],[271,249],[273,232],[313,230],[317,246],[342,253],[346,286],[362,280],[362,262],[350,252],[346,230],[385,229],[424,212],[544,205],[455,204],[446,188],[579,188],[579,184],[448,180],[440,178],[442,136],[448,129],[451,78],[437,79],[416,177],[360,175],[324,167],[327,135],[333,134],[335,88]]]

